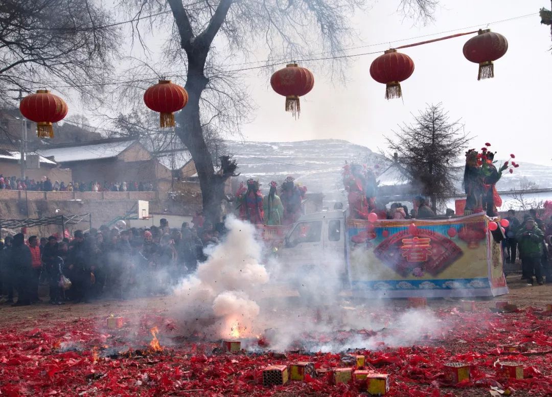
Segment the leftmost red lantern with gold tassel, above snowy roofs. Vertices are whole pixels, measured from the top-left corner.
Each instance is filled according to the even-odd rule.
[[[36,123],[36,135],[39,138],[53,138],[52,123],[62,120],[68,110],[65,100],[47,89],[39,89],[35,94],[23,98],[19,104],[23,117]]]

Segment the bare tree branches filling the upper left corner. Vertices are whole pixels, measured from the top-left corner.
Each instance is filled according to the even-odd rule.
[[[3,0],[0,3],[0,92],[73,88],[98,99],[113,76],[119,34],[93,0]]]

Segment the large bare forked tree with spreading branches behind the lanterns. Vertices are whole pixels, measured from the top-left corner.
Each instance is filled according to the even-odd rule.
[[[403,0],[401,6],[417,10],[421,5],[429,15],[431,3],[434,1]],[[255,45],[266,49],[269,65],[301,59],[314,51],[342,55],[340,51],[353,34],[351,15],[364,2],[123,0],[122,4],[131,6],[137,15],[166,10],[172,13],[173,34],[166,44],[167,54],[185,65],[185,89],[189,94],[187,106],[178,114],[176,132],[198,170],[205,214],[218,221],[224,178],[215,173],[204,126],[213,123],[217,129],[235,131],[250,109],[240,75],[229,72],[224,65],[238,54],[247,57]],[[222,172],[227,177],[231,174]]]

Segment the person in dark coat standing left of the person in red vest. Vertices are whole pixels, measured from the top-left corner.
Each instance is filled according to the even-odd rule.
[[[13,245],[9,258],[10,266],[15,279],[17,289],[17,303],[13,306],[28,306],[31,300],[31,279],[33,278],[33,261],[31,251],[25,245],[25,236],[18,233],[13,236]]]

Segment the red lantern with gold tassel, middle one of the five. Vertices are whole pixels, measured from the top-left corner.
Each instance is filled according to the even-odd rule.
[[[299,97],[308,94],[314,87],[314,76],[305,67],[289,63],[270,77],[272,89],[285,97],[285,111],[298,118],[301,113]]]

